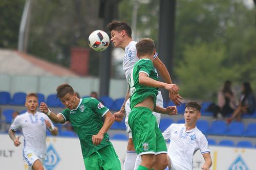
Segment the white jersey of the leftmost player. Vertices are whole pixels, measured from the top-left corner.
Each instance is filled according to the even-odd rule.
[[[45,158],[47,131],[45,119],[52,124],[49,117],[41,112],[36,112],[34,115],[26,112],[14,119],[11,129],[22,131],[24,136],[23,153],[31,152],[41,158]],[[52,127],[54,127],[53,124]]]

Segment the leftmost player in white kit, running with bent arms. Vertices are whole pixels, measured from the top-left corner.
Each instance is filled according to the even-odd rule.
[[[24,136],[23,159],[28,164],[29,169],[44,169],[46,157],[46,131],[52,135],[57,135],[58,130],[51,120],[44,113],[36,111],[38,98],[36,93],[29,93],[26,97],[25,106],[27,112],[18,115],[9,129],[9,136],[15,147],[20,145],[19,137],[15,136],[17,130],[22,131]]]

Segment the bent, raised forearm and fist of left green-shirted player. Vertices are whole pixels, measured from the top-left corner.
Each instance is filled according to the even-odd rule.
[[[54,123],[64,123],[65,119],[60,115],[60,114],[55,114],[54,112],[52,112],[46,103],[42,102],[39,106],[39,110],[42,113],[45,113]]]

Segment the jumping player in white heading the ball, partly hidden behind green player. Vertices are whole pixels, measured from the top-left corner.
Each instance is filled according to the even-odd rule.
[[[124,50],[125,56],[123,58],[123,71],[125,73],[126,81],[129,82],[133,66],[139,60],[139,58],[137,57],[137,51],[135,46],[137,42],[133,41],[132,39],[132,29],[128,25],[128,23],[124,21],[112,21],[111,23],[109,23],[107,28],[111,32],[111,41],[114,44],[114,46],[121,47]],[[162,76],[162,78],[164,79],[165,83],[173,84],[167,68],[162,63],[162,61],[158,58],[157,53],[154,56],[153,64],[154,64],[154,67]],[[176,105],[180,105],[181,103],[180,100],[182,99],[181,96],[178,94],[178,90],[179,90],[178,86],[175,85],[173,87],[173,90],[169,93],[169,98]],[[127,143],[127,153],[124,161],[124,170],[133,170],[136,157],[137,157],[134,144],[133,144],[131,128],[128,125],[128,116],[129,116],[129,113],[131,112],[129,91],[130,89],[127,89],[125,100],[120,111],[114,113],[115,120],[117,122],[121,122],[124,117],[124,114],[126,113],[125,125],[126,125],[126,131],[129,134],[129,140]],[[157,105],[163,107],[163,98],[160,91],[157,95]],[[153,114],[156,116],[157,123],[159,125],[160,114],[156,112],[153,112]]]

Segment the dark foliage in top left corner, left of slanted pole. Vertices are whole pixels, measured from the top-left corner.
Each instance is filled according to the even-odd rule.
[[[24,0],[0,1],[0,48],[17,49]]]

